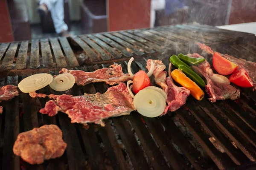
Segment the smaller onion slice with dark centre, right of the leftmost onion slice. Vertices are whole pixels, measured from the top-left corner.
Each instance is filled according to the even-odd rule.
[[[49,86],[55,91],[66,91],[75,84],[75,77],[70,73],[59,74],[54,77]]]

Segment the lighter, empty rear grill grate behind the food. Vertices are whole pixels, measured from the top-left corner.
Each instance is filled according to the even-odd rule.
[[[59,37],[0,44],[0,71],[42,70],[121,62],[126,57],[158,56],[166,51],[189,51],[195,42],[207,45],[247,44],[253,34],[212,26],[183,24],[110,33]],[[256,45],[238,46],[256,53]]]

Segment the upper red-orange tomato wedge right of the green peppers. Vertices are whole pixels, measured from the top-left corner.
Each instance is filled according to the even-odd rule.
[[[225,59],[224,57],[221,57],[221,55],[216,52],[212,57],[212,65],[214,69],[222,75],[231,74],[238,69],[238,65],[229,61],[228,59]]]

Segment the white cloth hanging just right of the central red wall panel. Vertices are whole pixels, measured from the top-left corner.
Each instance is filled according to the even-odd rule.
[[[166,0],[151,0],[150,27],[154,27],[156,11],[165,8]]]

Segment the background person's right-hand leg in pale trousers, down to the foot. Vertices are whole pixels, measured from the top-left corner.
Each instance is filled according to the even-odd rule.
[[[67,24],[64,22],[64,0],[55,1],[56,2],[52,5],[51,10],[55,31],[58,34],[60,34],[61,32],[65,32],[68,34]]]

